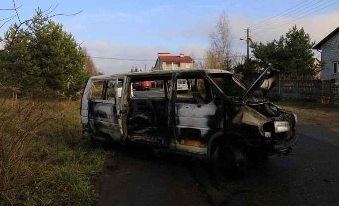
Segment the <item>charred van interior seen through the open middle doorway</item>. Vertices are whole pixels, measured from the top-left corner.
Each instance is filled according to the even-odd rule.
[[[128,89],[133,91],[133,96],[127,95],[127,138],[130,141],[161,147],[168,146],[168,82],[170,79],[170,75],[131,78],[132,87],[136,82],[151,81],[152,88],[149,91]]]

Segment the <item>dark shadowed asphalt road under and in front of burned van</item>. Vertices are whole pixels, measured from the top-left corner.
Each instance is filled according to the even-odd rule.
[[[339,137],[299,124],[293,155],[270,156],[228,179],[212,159],[114,146],[97,206],[336,206]]]

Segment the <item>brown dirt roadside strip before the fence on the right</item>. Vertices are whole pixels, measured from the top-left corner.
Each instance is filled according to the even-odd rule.
[[[296,114],[299,124],[320,125],[339,136],[339,114],[337,112],[323,109],[300,109],[288,106],[281,106],[280,108],[290,110]]]

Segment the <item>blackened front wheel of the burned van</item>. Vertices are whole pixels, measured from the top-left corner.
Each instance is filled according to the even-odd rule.
[[[242,176],[246,171],[246,158],[241,149],[232,144],[221,145],[218,148],[219,164],[230,178]]]

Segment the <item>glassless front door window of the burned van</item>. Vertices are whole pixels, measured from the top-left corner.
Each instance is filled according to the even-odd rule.
[[[178,80],[182,83],[188,84],[187,93],[177,93],[176,103],[190,103],[190,104],[208,104],[212,101],[211,88],[206,79],[202,76],[178,76]],[[185,82],[184,82],[185,81]]]

